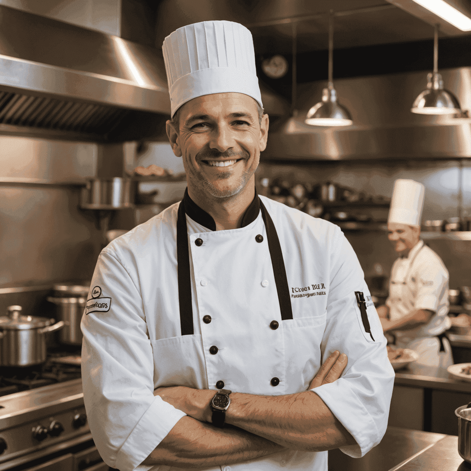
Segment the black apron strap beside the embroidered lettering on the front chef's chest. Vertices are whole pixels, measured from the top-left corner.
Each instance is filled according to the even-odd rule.
[[[292,319],[293,311],[291,309],[290,289],[288,287],[288,279],[286,278],[283,252],[281,252],[281,245],[278,239],[278,234],[276,234],[275,224],[273,224],[273,221],[261,200],[260,210],[262,211],[262,218],[263,222],[265,223],[265,230],[267,231],[268,250],[270,251],[273,275],[275,276],[276,292],[278,293],[278,302],[280,303],[281,319]]]

